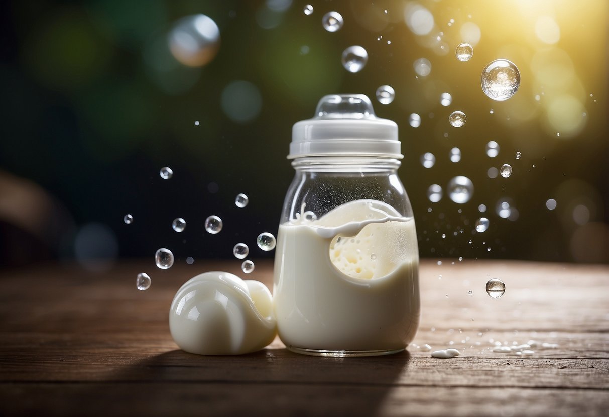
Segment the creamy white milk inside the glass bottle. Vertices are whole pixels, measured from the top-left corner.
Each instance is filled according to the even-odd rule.
[[[412,218],[387,204],[352,201],[281,224],[273,303],[289,348],[403,350],[420,316]]]

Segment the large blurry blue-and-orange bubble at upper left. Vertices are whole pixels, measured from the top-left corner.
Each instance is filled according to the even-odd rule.
[[[200,67],[213,60],[220,49],[220,29],[209,16],[186,16],[176,22],[167,41],[176,60]]]

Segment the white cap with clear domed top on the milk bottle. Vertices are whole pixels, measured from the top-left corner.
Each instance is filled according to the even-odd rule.
[[[287,159],[307,156],[378,156],[402,159],[398,125],[375,116],[364,94],[326,95],[313,119],[292,128]]]

